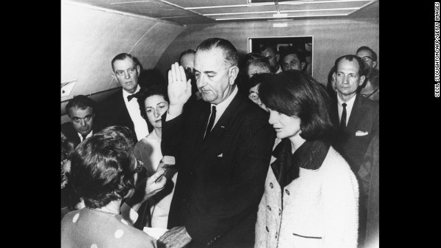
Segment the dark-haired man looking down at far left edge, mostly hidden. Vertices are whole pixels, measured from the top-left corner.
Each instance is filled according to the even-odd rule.
[[[65,107],[70,122],[61,125],[61,132],[74,143],[74,147],[96,131],[94,125],[96,103],[88,96],[77,95]]]

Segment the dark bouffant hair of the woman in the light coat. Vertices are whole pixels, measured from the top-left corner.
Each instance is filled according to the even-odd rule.
[[[328,140],[333,130],[325,87],[299,70],[273,74],[260,84],[259,96],[271,110],[300,118],[300,136],[307,141]]]

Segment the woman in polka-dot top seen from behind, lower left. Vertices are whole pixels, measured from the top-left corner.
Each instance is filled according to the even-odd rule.
[[[120,207],[134,194],[143,167],[134,156],[134,133],[127,127],[106,127],[76,147],[71,156],[70,183],[85,207],[61,220],[61,247],[156,247],[154,239],[132,227]],[[158,172],[147,179],[146,198],[165,185]],[[144,190],[144,189],[143,189]]]

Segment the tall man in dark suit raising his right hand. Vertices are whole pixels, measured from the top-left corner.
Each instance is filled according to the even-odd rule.
[[[183,110],[191,84],[178,63],[168,74],[170,108],[163,117],[164,155],[179,168],[168,227],[158,247],[253,247],[274,132],[268,116],[242,94],[236,48],[203,41],[194,72],[203,101]]]

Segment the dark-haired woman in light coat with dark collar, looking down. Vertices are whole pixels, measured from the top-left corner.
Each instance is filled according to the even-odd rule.
[[[274,74],[259,96],[282,141],[258,207],[255,247],[356,247],[358,183],[331,147],[329,96],[298,70]]]

